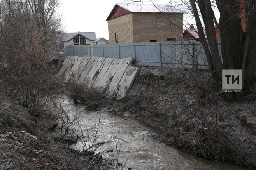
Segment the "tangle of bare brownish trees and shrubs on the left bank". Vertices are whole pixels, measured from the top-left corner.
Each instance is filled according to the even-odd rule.
[[[61,33],[59,5],[60,0],[0,1],[0,59],[8,63],[19,101],[35,116],[51,99],[47,61]]]

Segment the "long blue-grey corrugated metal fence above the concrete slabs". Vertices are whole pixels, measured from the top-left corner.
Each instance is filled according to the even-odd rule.
[[[221,44],[218,40],[221,54]],[[207,58],[200,42],[195,40],[170,42],[116,43],[65,46],[67,56],[133,57],[135,64],[148,66],[208,69]]]

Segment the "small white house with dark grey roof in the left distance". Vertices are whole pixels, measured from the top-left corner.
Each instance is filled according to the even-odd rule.
[[[61,41],[67,45],[90,45],[96,40],[95,32],[63,33]]]

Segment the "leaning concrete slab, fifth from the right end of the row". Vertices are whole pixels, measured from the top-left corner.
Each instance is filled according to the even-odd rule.
[[[99,69],[101,68],[105,59],[106,59],[106,57],[98,57],[98,59],[95,61],[95,64],[91,68],[91,71],[89,72],[88,76],[86,77],[86,79],[84,81],[85,87],[91,87],[91,82],[100,73]]]

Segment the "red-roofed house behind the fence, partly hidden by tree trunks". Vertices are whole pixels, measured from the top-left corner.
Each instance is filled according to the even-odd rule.
[[[205,34],[205,38],[207,38],[205,29],[203,29],[203,33]],[[216,33],[216,38],[220,39],[221,35],[219,32],[219,27],[215,26],[215,33]],[[199,40],[199,34],[198,34],[198,29],[194,29],[194,26],[190,26],[189,29],[186,29],[183,33],[183,39],[184,40],[189,40],[189,39],[194,39],[194,40]]]

